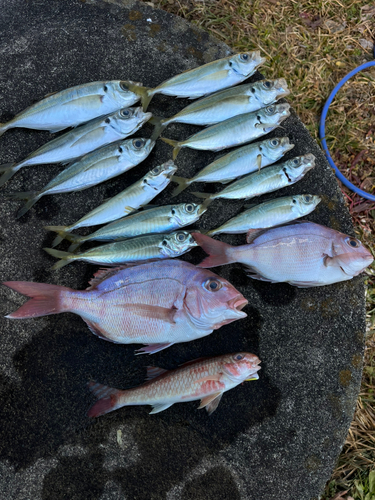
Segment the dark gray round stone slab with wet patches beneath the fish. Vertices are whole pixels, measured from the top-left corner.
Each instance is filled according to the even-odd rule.
[[[0,12],[1,121],[52,91],[118,78],[155,86],[229,53],[194,26],[133,0],[0,0]],[[159,96],[150,110],[169,116],[187,102]],[[320,149],[296,116],[283,127],[296,145],[286,158],[312,152],[317,166],[300,183],[263,199],[320,194],[323,201],[308,219],[353,234]],[[146,126],[137,135],[151,130]],[[195,130],[174,125],[165,135],[185,138]],[[8,131],[0,139],[0,162],[25,157],[49,137]],[[42,248],[50,246],[53,235],[43,226],[78,219],[170,157],[170,147],[158,141],[148,160],[128,174],[82,193],[45,197],[20,220],[15,219],[19,203],[2,199],[1,281],[84,288],[96,267],[76,263],[50,271],[53,259]],[[179,175],[191,175],[213,158],[183,150]],[[59,169],[25,168],[2,192],[40,188]],[[169,202],[170,192],[157,201]],[[179,200],[192,200],[188,190]],[[215,201],[199,227],[213,227],[241,206]],[[242,241],[239,236],[222,239]],[[197,263],[202,255],[197,249],[185,258]],[[297,289],[251,281],[236,265],[216,271],[248,298],[248,318],[152,357],[135,357],[133,346],[103,342],[73,314],[0,319],[0,498],[318,497],[344,443],[358,393],[363,280]],[[5,287],[0,297],[1,318],[24,301]],[[86,387],[90,379],[126,388],[143,381],[149,364],[173,368],[200,356],[244,350],[262,359],[260,380],[226,393],[211,417],[197,411],[196,403],[152,416],[148,407],[124,408],[93,421],[86,416],[93,402]]]

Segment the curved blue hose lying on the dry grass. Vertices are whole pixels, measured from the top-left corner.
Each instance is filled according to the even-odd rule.
[[[374,53],[374,58],[375,58],[375,45],[373,47],[373,53]],[[353,71],[351,71],[350,73],[348,73],[346,76],[344,76],[344,78],[336,85],[336,87],[332,90],[330,96],[328,97],[327,99],[327,102],[325,103],[324,105],[324,108],[323,108],[323,111],[322,111],[322,115],[320,117],[320,125],[319,125],[319,135],[320,135],[320,139],[322,141],[322,146],[323,146],[323,149],[324,149],[324,152],[325,152],[325,155],[327,157],[327,160],[328,160],[328,163],[331,165],[331,167],[335,170],[336,172],[336,177],[338,177],[338,179],[346,186],[348,187],[351,191],[354,191],[355,193],[359,194],[360,196],[362,196],[363,198],[367,198],[368,200],[371,200],[371,201],[375,201],[375,196],[368,193],[367,191],[363,191],[362,189],[360,189],[359,187],[355,186],[354,184],[352,184],[346,177],[344,177],[342,175],[342,173],[340,172],[340,170],[337,168],[337,166],[335,165],[335,162],[332,160],[332,157],[329,153],[329,150],[328,150],[328,146],[327,146],[327,143],[326,143],[326,139],[325,139],[325,134],[326,134],[326,131],[325,131],[325,126],[326,126],[326,118],[327,118],[327,113],[328,113],[328,109],[333,101],[333,99],[335,98],[337,92],[341,89],[341,87],[354,75],[356,75],[357,73],[359,73],[360,71],[362,71],[363,69],[367,69],[367,68],[370,68],[371,66],[375,66],[375,61],[369,61],[367,63],[364,63],[364,64],[361,64],[360,66],[357,66],[355,69],[353,69]]]

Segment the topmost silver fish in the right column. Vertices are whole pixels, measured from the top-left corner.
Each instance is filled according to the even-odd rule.
[[[242,83],[265,61],[258,50],[232,54],[184,71],[155,88],[129,86],[129,89],[141,96],[142,106],[146,111],[156,94],[196,99]]]

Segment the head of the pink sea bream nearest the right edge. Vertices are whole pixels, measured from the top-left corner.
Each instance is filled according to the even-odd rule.
[[[333,238],[332,254],[331,263],[340,266],[348,276],[357,276],[374,260],[371,252],[357,238],[338,231]]]

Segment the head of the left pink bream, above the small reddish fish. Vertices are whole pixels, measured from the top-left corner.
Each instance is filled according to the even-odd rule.
[[[229,281],[201,268],[196,268],[189,280],[184,299],[185,311],[195,327],[210,330],[245,318],[242,309],[247,303]]]

